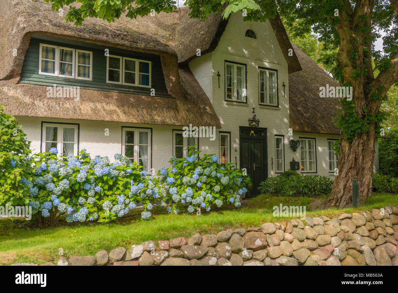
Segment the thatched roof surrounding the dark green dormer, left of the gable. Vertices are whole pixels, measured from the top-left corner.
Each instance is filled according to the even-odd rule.
[[[66,15],[68,8],[64,7]],[[16,116],[87,119],[220,128],[211,102],[188,68],[178,68],[170,47],[173,14],[114,23],[88,18],[82,26],[66,23],[43,0],[0,3],[0,105]],[[163,28],[161,28],[163,27]],[[39,33],[160,55],[166,88],[172,98],[80,90],[80,100],[47,98],[47,87],[18,84],[31,35]],[[169,44],[168,44],[169,43]],[[17,56],[13,55],[17,49]]]

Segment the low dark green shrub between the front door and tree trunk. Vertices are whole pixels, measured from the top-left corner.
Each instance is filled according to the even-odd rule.
[[[259,190],[278,196],[319,196],[332,191],[333,181],[326,176],[286,175],[267,178],[259,184]]]

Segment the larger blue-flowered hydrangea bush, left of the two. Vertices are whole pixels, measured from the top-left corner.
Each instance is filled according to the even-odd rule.
[[[157,181],[121,154],[111,164],[108,157],[91,158],[86,150],[67,158],[57,153],[51,148],[33,156],[31,180],[21,179],[29,186],[29,205],[41,224],[53,225],[65,213],[68,222],[106,223],[137,205],[144,207],[142,218],[148,219],[155,203],[165,206]]]

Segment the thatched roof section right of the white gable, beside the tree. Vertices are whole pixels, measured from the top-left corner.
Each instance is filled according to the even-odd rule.
[[[337,115],[340,98],[319,97],[321,86],[339,86],[339,83],[292,45],[302,70],[289,74],[290,127],[300,132],[340,134],[332,122]]]

